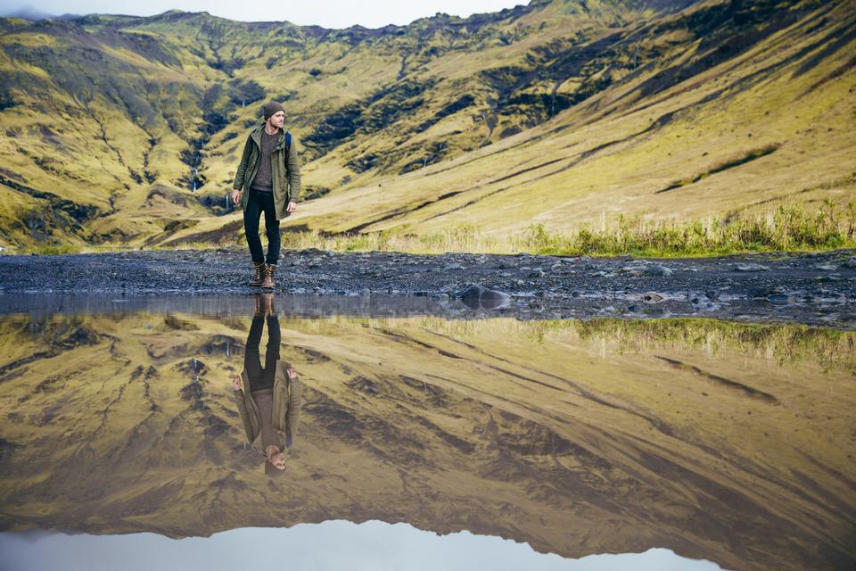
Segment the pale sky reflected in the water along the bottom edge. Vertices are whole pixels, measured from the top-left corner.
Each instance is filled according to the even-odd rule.
[[[156,534],[65,535],[28,532],[0,534],[3,571],[96,571],[121,569],[326,569],[380,571],[416,569],[537,569],[538,571],[712,571],[710,561],[694,561],[671,550],[591,555],[562,559],[516,543],[469,532],[440,536],[412,525],[380,521],[328,521],[288,529],[235,529],[208,538],[171,540]]]

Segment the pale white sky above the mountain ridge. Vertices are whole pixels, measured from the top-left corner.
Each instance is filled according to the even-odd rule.
[[[437,12],[469,16],[479,12],[498,12],[529,0],[304,0],[301,2],[266,2],[265,0],[148,0],[144,3],[128,0],[3,0],[0,14],[31,7],[40,12],[120,13],[152,16],[168,10],[209,12],[212,15],[240,21],[290,21],[294,24],[315,24],[325,28],[348,28],[359,24],[366,28],[381,28],[387,24],[405,25]]]

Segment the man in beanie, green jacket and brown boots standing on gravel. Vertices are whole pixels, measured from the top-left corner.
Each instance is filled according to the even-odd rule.
[[[250,245],[256,275],[250,285],[274,287],[274,272],[279,260],[279,220],[297,210],[300,197],[300,161],[297,142],[285,132],[285,110],[275,101],[265,103],[265,122],[253,128],[243,145],[243,154],[232,202],[243,208],[243,230]],[[268,236],[267,263],[259,239],[259,219],[265,213]]]

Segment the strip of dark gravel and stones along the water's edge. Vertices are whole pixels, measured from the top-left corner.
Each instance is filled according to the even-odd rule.
[[[246,285],[250,277],[238,248],[0,256],[0,310],[37,307],[56,294],[235,296],[258,291]],[[371,307],[370,299],[522,319],[697,316],[856,327],[854,251],[652,260],[303,250],[284,252],[276,283],[300,307],[309,297],[331,311]]]

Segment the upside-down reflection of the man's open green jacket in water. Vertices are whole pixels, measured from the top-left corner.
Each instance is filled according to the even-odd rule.
[[[288,378],[285,369],[288,363],[282,360],[276,361],[276,375],[274,377],[273,390],[273,424],[276,438],[279,441],[280,450],[292,445],[292,439],[297,435],[297,425],[300,422],[300,407],[303,406],[301,393],[303,390],[300,380]],[[250,378],[247,370],[241,373],[243,386],[250,386]],[[247,442],[258,451],[261,446],[261,416],[256,401],[252,400],[251,394],[246,390],[235,391],[235,404],[243,421],[243,430],[247,434]],[[264,453],[262,451],[262,453]]]

